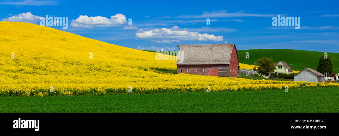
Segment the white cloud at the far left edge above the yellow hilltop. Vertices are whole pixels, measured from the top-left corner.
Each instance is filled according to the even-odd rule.
[[[2,19],[1,21],[9,21],[9,22],[26,22],[36,24],[40,22],[40,17],[32,15],[31,12],[20,13],[19,15],[15,15],[9,18]]]

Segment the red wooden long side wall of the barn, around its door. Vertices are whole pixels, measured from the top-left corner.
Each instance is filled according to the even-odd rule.
[[[182,69],[182,72],[180,72]],[[190,69],[190,72],[187,72]],[[198,72],[196,72],[198,69]],[[206,69],[203,72],[203,69]],[[208,75],[209,69],[218,69],[218,76],[228,76],[228,65],[177,65],[177,73]]]

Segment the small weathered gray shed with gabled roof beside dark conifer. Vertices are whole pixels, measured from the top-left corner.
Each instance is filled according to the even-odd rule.
[[[311,68],[304,68],[293,76],[294,81],[324,82],[325,75]]]

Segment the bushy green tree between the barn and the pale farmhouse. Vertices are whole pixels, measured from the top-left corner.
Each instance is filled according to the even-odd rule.
[[[271,58],[261,58],[258,59],[259,67],[258,67],[258,73],[259,76],[263,76],[265,73],[268,72],[274,72],[277,68],[273,65],[274,62]]]

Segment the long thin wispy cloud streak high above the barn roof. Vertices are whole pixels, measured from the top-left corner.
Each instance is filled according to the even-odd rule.
[[[183,15],[177,18],[228,18],[228,17],[274,17],[277,15],[270,14],[247,14],[247,13],[227,13],[226,10],[213,11],[213,12],[203,12],[201,15]]]

